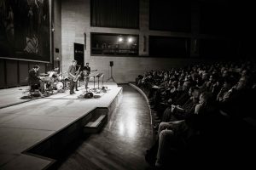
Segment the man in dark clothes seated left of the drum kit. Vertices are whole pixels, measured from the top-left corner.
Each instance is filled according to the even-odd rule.
[[[28,84],[31,86],[33,84],[37,84],[40,86],[40,91],[44,93],[44,82],[37,76],[37,72],[39,71],[39,65],[34,65],[33,68],[28,71]]]

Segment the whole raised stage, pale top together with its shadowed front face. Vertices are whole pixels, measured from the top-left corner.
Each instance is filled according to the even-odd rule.
[[[107,93],[92,99],[79,98],[82,87],[73,95],[67,90],[38,99],[20,99],[27,87],[0,90],[0,169],[43,169],[53,164],[49,156],[79,138],[94,115],[106,115],[108,120],[119,104],[122,88],[114,82],[104,86]]]

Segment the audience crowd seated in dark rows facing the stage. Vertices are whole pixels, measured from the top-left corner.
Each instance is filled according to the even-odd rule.
[[[255,129],[246,120],[255,118],[255,77],[252,62],[145,72],[137,86],[148,94],[154,118],[160,120],[154,123],[157,135],[146,161],[156,167],[170,167],[174,160],[183,161],[199,153],[204,159],[204,154],[212,156],[218,151],[222,153],[218,163],[225,156],[249,159],[246,151],[254,147]],[[241,153],[247,156],[239,156]]]

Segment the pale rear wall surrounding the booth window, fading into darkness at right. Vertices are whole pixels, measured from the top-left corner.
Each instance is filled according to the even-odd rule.
[[[168,9],[165,5],[176,9],[165,11]],[[241,12],[236,14],[237,11],[245,10],[246,6],[241,7],[228,1],[183,0],[182,3],[177,3],[172,0],[139,0],[139,28],[129,29],[91,26],[90,0],[74,0],[72,3],[62,0],[62,69],[67,71],[73,59],[73,42],[84,43],[84,33],[84,62],[90,62],[92,69],[103,72],[107,79],[110,77],[109,61],[113,61],[113,77],[116,82],[134,81],[138,74],[150,69],[168,69],[198,62],[247,57],[242,54],[248,51],[248,46],[241,48],[241,44],[247,42],[242,42],[246,32],[243,22],[245,18],[252,16]],[[180,14],[181,11],[184,14]],[[240,20],[236,20],[237,15],[241,17]],[[253,20],[250,22],[249,25],[252,25]],[[238,29],[237,26],[243,29]],[[139,55],[91,55],[91,32],[138,35]],[[150,42],[150,37],[154,41]]]

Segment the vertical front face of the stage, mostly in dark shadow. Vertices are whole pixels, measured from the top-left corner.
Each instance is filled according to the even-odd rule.
[[[102,124],[103,127],[108,122],[108,118],[112,115],[114,109],[119,105],[121,99],[122,89],[119,91],[119,94],[115,96],[108,107],[97,107],[88,113],[84,113],[84,116],[80,117],[77,121],[69,124],[67,127],[62,128],[59,132],[49,136],[48,139],[44,139],[38,144],[33,145],[31,148],[24,150],[22,153],[55,160],[63,150],[72,145],[74,141],[84,136],[84,125],[96,119],[98,116],[107,115],[108,117],[106,122]]]

